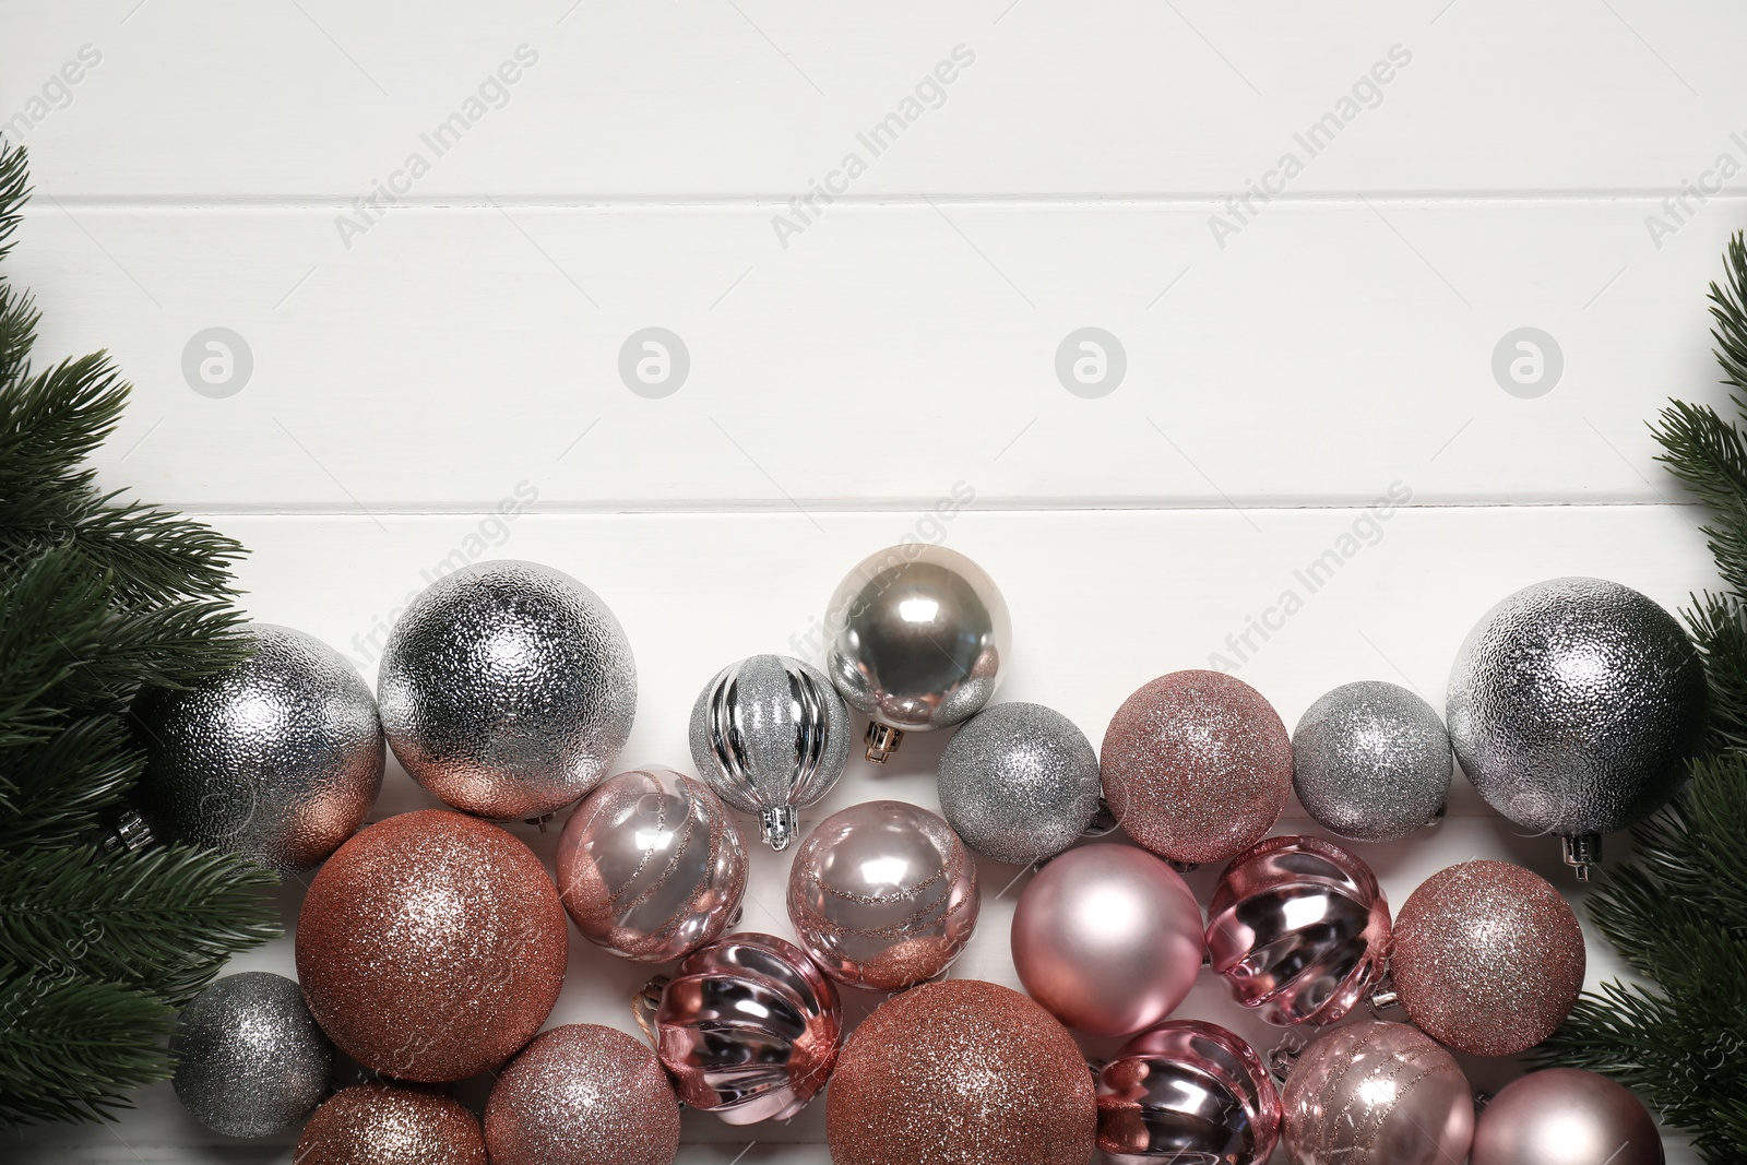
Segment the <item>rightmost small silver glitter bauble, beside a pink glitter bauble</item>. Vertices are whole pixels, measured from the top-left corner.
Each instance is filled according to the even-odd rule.
[[[1359,842],[1391,842],[1429,824],[1454,770],[1438,713],[1380,679],[1335,688],[1293,732],[1293,789],[1305,812]]]

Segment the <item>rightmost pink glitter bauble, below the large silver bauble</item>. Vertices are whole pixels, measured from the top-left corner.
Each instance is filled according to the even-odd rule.
[[[1553,1034],[1583,990],[1583,931],[1546,879],[1464,861],[1408,898],[1389,964],[1426,1034],[1469,1055],[1516,1055]]]

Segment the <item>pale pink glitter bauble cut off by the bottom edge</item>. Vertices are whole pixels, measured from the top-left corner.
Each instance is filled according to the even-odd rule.
[[[597,1024],[566,1024],[515,1057],[486,1100],[493,1165],[671,1165],[680,1102],[655,1053]]]

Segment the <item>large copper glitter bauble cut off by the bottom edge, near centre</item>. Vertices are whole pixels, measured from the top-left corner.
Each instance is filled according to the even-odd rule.
[[[1067,1029],[977,980],[880,1004],[826,1090],[835,1165],[1087,1165],[1095,1134],[1092,1074]]]

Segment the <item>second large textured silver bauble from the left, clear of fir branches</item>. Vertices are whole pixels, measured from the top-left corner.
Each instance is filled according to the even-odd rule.
[[[638,669],[606,604],[536,562],[479,562],[425,589],[383,651],[388,744],[412,779],[482,817],[538,817],[606,776]]]

